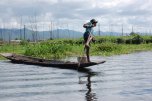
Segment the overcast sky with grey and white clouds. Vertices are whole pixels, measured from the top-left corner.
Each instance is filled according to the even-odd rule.
[[[152,0],[1,0],[0,24],[80,22],[97,19],[101,24],[150,25]]]

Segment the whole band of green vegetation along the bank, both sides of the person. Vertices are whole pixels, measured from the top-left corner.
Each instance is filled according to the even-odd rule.
[[[128,54],[136,51],[152,50],[152,36],[101,36],[91,44],[91,55],[111,56]],[[83,39],[55,39],[30,43],[21,41],[19,44],[2,44],[0,53],[11,52],[46,59],[60,59],[69,56],[82,56]]]

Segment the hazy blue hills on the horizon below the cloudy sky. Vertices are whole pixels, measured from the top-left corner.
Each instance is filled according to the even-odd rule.
[[[121,33],[117,32],[94,32],[94,35],[114,35],[119,36]],[[80,38],[83,37],[82,32],[69,30],[69,29],[56,29],[53,31],[32,31],[30,29],[2,29],[0,28],[0,39],[5,41],[15,40],[15,39],[25,39],[26,40],[46,40],[46,39],[55,39],[55,38]]]

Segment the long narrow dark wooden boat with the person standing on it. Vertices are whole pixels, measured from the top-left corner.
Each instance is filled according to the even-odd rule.
[[[47,59],[34,58],[25,55],[17,55],[14,53],[1,53],[0,55],[11,60],[11,62],[13,63],[39,65],[46,67],[59,67],[63,69],[82,69],[84,67],[94,66],[105,62],[105,61],[101,61],[101,62],[78,63],[78,62],[60,61],[60,60],[47,60]]]

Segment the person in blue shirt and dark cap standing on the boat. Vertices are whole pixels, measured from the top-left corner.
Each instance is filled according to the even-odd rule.
[[[93,27],[96,27],[97,23],[98,23],[98,21],[96,21],[95,19],[92,19],[92,20],[90,20],[90,22],[83,25],[83,27],[86,28],[83,38],[84,38],[84,51],[87,56],[88,62],[91,62],[89,50],[90,50],[90,41],[94,41]]]

